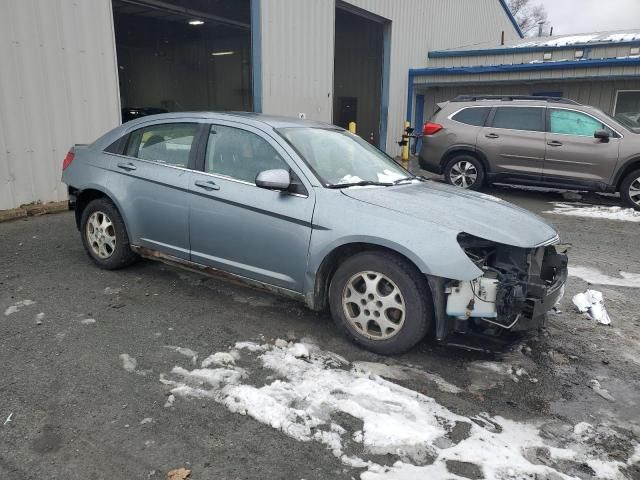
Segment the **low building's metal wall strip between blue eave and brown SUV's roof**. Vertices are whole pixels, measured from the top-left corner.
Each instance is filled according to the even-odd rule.
[[[613,113],[616,92],[619,90],[640,90],[640,78],[637,80],[602,80],[574,82],[536,82],[511,84],[483,84],[439,86],[418,89],[425,94],[425,119],[435,111],[436,104],[445,102],[457,95],[531,95],[540,92],[561,92],[564,97],[592,105],[609,114]]]

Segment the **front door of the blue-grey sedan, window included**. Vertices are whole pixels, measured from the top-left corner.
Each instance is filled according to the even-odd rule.
[[[191,259],[302,292],[311,239],[312,188],[297,193],[255,185],[263,170],[299,172],[264,132],[234,122],[211,125],[204,166],[189,190]],[[291,164],[289,164],[291,162]]]

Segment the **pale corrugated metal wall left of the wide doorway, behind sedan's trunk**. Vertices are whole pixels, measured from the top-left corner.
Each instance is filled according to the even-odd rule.
[[[110,0],[0,0],[0,210],[66,198],[74,143],[120,121]]]

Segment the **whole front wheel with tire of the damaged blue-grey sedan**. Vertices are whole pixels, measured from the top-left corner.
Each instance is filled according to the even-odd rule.
[[[426,278],[406,260],[384,252],[359,253],[342,263],[329,286],[329,306],[342,332],[382,355],[415,346],[433,319]]]

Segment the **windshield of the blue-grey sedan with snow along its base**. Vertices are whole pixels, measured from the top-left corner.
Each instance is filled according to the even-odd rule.
[[[282,128],[278,132],[328,187],[391,185],[414,176],[350,132],[328,128]]]

